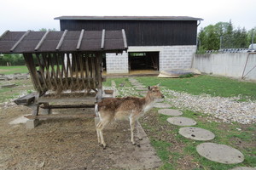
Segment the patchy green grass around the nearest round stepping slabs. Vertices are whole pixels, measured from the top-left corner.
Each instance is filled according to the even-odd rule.
[[[163,166],[160,167],[160,170],[169,170],[169,169],[179,169],[178,165],[180,161],[186,156],[190,156],[193,158],[192,163],[196,163],[200,165],[195,169],[211,169],[211,170],[228,170],[233,167],[255,167],[256,166],[256,148],[255,144],[253,145],[253,140],[255,141],[255,132],[256,125],[248,125],[247,127],[241,125],[239,123],[233,124],[225,124],[220,122],[207,122],[206,116],[201,113],[195,113],[192,111],[183,111],[183,116],[190,117],[195,119],[198,124],[195,127],[201,127],[212,131],[216,135],[215,139],[212,139],[210,142],[216,144],[228,144],[231,147],[240,150],[245,156],[245,160],[239,164],[222,164],[214,161],[209,161],[206,158],[200,156],[196,152],[196,146],[203,142],[195,141],[191,139],[186,139],[180,134],[178,134],[178,130],[180,127],[174,126],[168,122],[166,119],[170,116],[165,115],[157,115],[155,117],[158,126],[166,127],[166,131],[169,131],[170,135],[173,136],[174,139],[169,141],[168,139],[160,139],[157,140],[154,135],[154,139],[151,139],[151,143],[154,146],[158,156],[163,161]],[[159,134],[161,136],[161,132],[158,128],[149,125],[146,122],[142,123],[145,129],[148,129],[153,134]],[[238,131],[236,127],[242,129],[242,131]],[[175,141],[175,142],[173,142]],[[237,144],[237,141],[241,141],[244,145]],[[175,144],[181,144],[183,149],[177,151],[173,148],[179,148]],[[250,144],[247,146],[247,144]],[[180,148],[179,148],[180,149]],[[170,151],[171,150],[171,151]],[[170,162],[171,161],[171,162]],[[195,170],[194,169],[194,170]]]

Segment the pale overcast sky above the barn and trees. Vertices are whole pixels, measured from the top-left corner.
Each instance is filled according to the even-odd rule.
[[[191,16],[202,26],[229,22],[256,26],[256,0],[0,0],[0,35],[6,31],[60,30],[62,15]]]

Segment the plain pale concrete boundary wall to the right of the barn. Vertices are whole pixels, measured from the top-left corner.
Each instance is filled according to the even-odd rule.
[[[245,68],[247,53],[237,54],[195,54],[193,68],[207,74],[241,78]],[[256,65],[256,54],[250,54],[247,60],[245,74]],[[256,68],[246,76],[256,80]]]

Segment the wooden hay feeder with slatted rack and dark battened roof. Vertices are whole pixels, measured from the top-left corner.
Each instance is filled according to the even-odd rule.
[[[26,60],[37,93],[15,103],[31,107],[33,116],[42,104],[48,110],[93,107],[102,99],[102,55],[124,50],[124,30],[6,31],[0,37],[0,53],[23,54]],[[50,105],[58,102],[64,105]]]

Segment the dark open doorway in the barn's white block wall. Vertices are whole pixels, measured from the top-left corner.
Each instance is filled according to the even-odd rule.
[[[159,71],[159,52],[130,52],[129,71]]]

